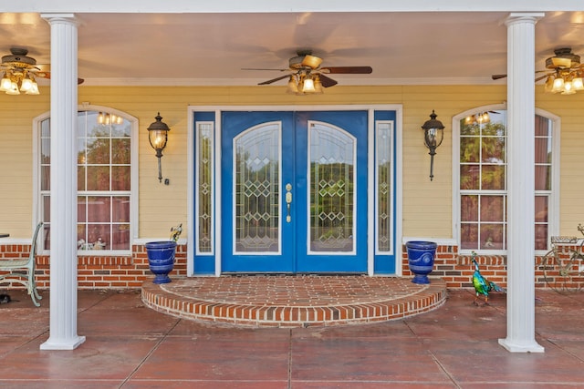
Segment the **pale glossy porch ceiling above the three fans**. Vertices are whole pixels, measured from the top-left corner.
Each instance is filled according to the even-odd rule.
[[[339,85],[495,84],[506,73],[508,13],[76,14],[83,85],[255,85],[278,77],[298,48],[323,66],[370,66]],[[50,60],[38,14],[0,14],[0,55],[29,49]],[[584,56],[584,12],[546,13],[536,26],[536,67],[553,49]],[[583,58],[584,61],[584,58]],[[282,80],[274,85],[285,85]]]

